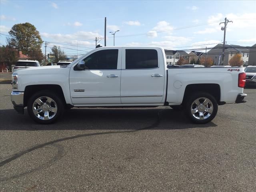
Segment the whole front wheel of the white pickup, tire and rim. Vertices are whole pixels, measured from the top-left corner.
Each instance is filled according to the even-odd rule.
[[[63,102],[57,94],[43,90],[28,100],[28,114],[37,123],[51,124],[62,116]]]

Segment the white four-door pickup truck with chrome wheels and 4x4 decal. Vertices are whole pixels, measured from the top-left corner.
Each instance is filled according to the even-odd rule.
[[[72,107],[182,108],[195,123],[210,122],[218,105],[246,102],[244,68],[167,68],[164,49],[102,47],[68,66],[12,74],[11,100],[42,124]]]

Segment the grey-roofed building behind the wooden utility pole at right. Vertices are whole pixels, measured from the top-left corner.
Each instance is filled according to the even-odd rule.
[[[207,57],[210,57],[214,61],[214,65],[222,64],[222,47],[223,44],[217,44],[210,51],[207,52]],[[225,44],[224,62],[223,65],[229,65],[229,61],[235,54],[241,54],[244,66],[248,65],[249,48],[239,45],[228,45]]]

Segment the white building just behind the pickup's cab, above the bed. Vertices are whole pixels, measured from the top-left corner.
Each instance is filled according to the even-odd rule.
[[[166,55],[167,65],[176,65],[180,57],[185,59],[185,63],[188,62],[188,53],[185,51],[164,50],[164,52]]]

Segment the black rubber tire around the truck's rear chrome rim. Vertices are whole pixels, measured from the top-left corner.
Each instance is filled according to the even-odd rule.
[[[200,98],[199,99],[200,105],[203,105],[203,103],[201,103],[201,102],[203,102],[204,98],[207,98],[208,100],[210,100],[210,102],[206,105],[206,109],[204,109],[205,106],[199,108],[199,107],[197,107],[198,105],[196,105],[194,103],[194,101],[197,100],[198,98]],[[195,111],[197,109],[198,112],[195,112],[194,115],[193,115],[192,114],[192,109],[194,109],[194,108],[195,108]],[[209,108],[212,108],[211,113],[205,111],[205,110],[208,110]],[[202,111],[200,111],[200,110],[202,110]],[[208,111],[210,111],[210,110],[208,110]],[[196,124],[205,124],[205,123],[210,122],[216,116],[217,111],[218,111],[218,102],[216,101],[214,96],[212,96],[209,93],[195,92],[192,95],[190,95],[189,98],[186,99],[185,113],[188,116],[188,118]],[[200,113],[201,114],[203,113],[203,116],[200,117]],[[198,119],[198,118],[200,118],[200,119]],[[203,118],[205,118],[205,119],[203,119]]]

